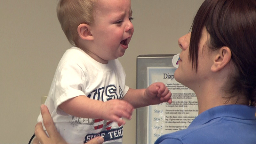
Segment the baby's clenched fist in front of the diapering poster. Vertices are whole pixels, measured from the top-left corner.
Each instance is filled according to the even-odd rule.
[[[172,103],[172,93],[165,86],[164,83],[156,82],[145,90],[145,97],[149,99],[148,102],[151,105],[159,104],[162,102]]]

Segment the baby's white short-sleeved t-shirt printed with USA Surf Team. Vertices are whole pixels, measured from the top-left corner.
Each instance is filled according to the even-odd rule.
[[[101,101],[122,99],[129,89],[125,85],[125,77],[124,69],[117,59],[102,64],[77,47],[64,53],[45,105],[60,135],[68,143],[84,143],[95,136],[103,136],[104,143],[122,143],[122,125],[103,119],[71,116],[58,106],[80,95]],[[41,114],[37,121],[43,121]]]

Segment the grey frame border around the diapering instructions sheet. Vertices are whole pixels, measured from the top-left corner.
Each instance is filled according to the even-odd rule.
[[[172,67],[172,58],[176,54],[151,54],[137,57],[136,88],[148,87],[148,67]],[[136,109],[136,144],[148,143],[148,107]]]

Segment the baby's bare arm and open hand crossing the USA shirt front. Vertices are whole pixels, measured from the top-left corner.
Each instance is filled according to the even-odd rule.
[[[133,106],[124,100],[114,99],[102,102],[84,95],[63,102],[59,108],[72,116],[106,119],[123,125],[125,121],[120,117],[131,119],[134,110]]]

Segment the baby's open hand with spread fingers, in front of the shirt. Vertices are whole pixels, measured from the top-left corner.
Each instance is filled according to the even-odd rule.
[[[120,118],[125,117],[130,120],[132,118],[132,112],[134,111],[134,107],[130,103],[117,99],[103,102],[100,109],[102,110],[103,119],[115,121],[123,125],[125,121]]]

